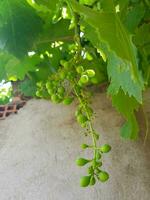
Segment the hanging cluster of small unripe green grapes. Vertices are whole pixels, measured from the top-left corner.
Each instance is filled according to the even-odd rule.
[[[52,74],[49,79],[44,83],[38,83],[37,96],[42,97],[44,94],[49,96],[54,103],[63,103],[70,105],[75,97],[78,99],[79,104],[75,112],[77,122],[81,127],[86,129],[86,134],[91,135],[93,145],[82,144],[82,149],[93,149],[93,158],[85,159],[79,158],[76,160],[78,166],[90,164],[88,167],[88,176],[83,176],[80,180],[80,185],[86,187],[94,185],[97,180],[105,182],[108,180],[109,175],[107,172],[101,170],[103,153],[110,151],[111,147],[105,144],[97,147],[97,140],[99,135],[93,128],[93,109],[90,106],[90,93],[87,86],[92,83],[95,77],[93,69],[84,69],[79,65],[76,60],[61,60],[59,70]]]

